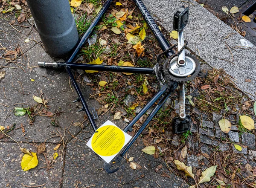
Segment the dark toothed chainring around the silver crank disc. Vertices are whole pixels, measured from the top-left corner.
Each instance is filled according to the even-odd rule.
[[[189,54],[185,54],[185,56],[187,56],[189,58],[192,58],[192,60],[195,61],[195,65],[196,65],[195,71],[191,75],[188,75],[188,76],[185,76],[185,77],[177,77],[175,75],[172,75],[169,72],[170,59],[169,58],[164,59],[164,60],[162,59],[161,60],[162,61],[161,65],[163,66],[162,67],[162,71],[163,71],[164,79],[166,81],[176,81],[177,83],[180,83],[180,82],[185,82],[185,81],[193,80],[195,77],[202,75],[201,66],[200,66],[200,63],[199,63],[198,59],[195,58],[192,55],[189,55]]]

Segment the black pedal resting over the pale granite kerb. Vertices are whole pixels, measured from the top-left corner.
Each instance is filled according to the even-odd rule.
[[[173,29],[182,32],[189,21],[189,7],[182,6],[174,14]]]

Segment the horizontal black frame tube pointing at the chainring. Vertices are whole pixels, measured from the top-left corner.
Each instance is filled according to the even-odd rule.
[[[81,69],[81,70],[154,74],[153,68],[145,68],[145,67],[125,67],[125,66],[113,66],[113,65],[75,64],[75,63],[67,63],[62,65],[60,64],[60,67],[61,66],[68,66],[71,69]]]

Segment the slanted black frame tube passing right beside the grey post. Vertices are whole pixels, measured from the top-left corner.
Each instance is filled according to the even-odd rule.
[[[99,20],[102,18],[103,14],[105,14],[108,10],[108,8],[110,7],[111,3],[113,0],[107,0],[105,2],[105,4],[103,5],[101,11],[99,12],[99,14],[97,15],[97,17],[95,18],[95,20],[93,21],[93,23],[90,25],[90,27],[87,29],[87,31],[84,33],[83,37],[81,38],[78,46],[76,47],[75,51],[73,52],[73,54],[70,56],[70,58],[68,59],[67,62],[73,62],[74,58],[76,57],[76,54],[80,51],[80,49],[82,48],[82,46],[84,45],[84,43],[88,40],[88,38],[90,37],[91,33],[93,32],[94,27],[99,23]]]

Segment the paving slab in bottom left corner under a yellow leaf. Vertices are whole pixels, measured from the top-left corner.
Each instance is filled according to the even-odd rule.
[[[20,147],[36,152],[36,148],[29,144],[20,144]],[[47,144],[47,153],[52,156],[55,145]],[[0,142],[0,187],[24,188],[23,185],[36,186],[44,185],[42,188],[59,188],[62,178],[61,157],[57,157],[49,171],[47,171],[45,157],[38,154],[38,166],[23,171],[20,166],[23,153],[15,142]],[[4,164],[3,164],[4,162]]]

